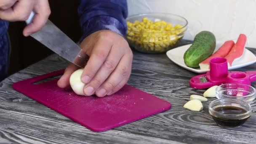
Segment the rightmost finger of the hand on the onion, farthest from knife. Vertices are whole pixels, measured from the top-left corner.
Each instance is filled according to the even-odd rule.
[[[128,81],[131,75],[132,65],[132,52],[125,53],[120,60],[116,69],[112,72],[109,78],[101,85],[96,91],[96,95],[99,97],[105,96],[106,94],[112,94],[118,91]],[[104,89],[106,93],[102,94],[101,91]]]

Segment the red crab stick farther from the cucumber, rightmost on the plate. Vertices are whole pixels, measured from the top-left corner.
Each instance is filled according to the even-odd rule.
[[[237,43],[235,43],[231,51],[229,51],[229,54],[225,56],[229,67],[232,66],[234,61],[239,60],[243,56],[245,43],[246,43],[246,35],[240,34],[237,39]]]

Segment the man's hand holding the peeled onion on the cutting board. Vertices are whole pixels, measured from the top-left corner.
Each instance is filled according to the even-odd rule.
[[[101,30],[86,37],[80,46],[90,56],[81,77],[85,96],[95,93],[103,97],[125,85],[131,75],[133,53],[122,36]],[[59,87],[67,87],[70,75],[77,69],[79,67],[70,64],[58,81]]]

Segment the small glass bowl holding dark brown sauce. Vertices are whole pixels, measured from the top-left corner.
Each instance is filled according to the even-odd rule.
[[[216,99],[209,104],[209,113],[221,127],[235,128],[251,116],[252,107],[238,99]]]

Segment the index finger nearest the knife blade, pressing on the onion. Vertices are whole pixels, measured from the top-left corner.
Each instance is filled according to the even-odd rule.
[[[99,68],[102,66],[104,61],[109,55],[110,48],[112,44],[105,40],[98,40],[93,46],[93,51],[91,56],[85,65],[81,80],[83,83],[87,84],[96,75]]]

